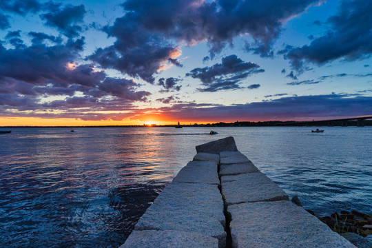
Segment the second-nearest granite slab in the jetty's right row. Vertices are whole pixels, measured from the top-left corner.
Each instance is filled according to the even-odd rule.
[[[221,185],[226,205],[289,200],[287,194],[276,183],[260,172],[222,176]]]

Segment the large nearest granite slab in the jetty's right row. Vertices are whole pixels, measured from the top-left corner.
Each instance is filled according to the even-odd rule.
[[[287,200],[231,205],[227,211],[234,248],[354,247],[316,216]]]

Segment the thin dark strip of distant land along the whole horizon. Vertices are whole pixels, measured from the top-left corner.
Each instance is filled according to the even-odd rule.
[[[182,124],[181,124],[182,125]],[[358,121],[348,121],[347,126],[357,126]],[[174,127],[174,125],[74,125],[74,126],[0,126],[0,128],[78,128],[78,127]],[[236,121],[234,123],[208,123],[182,125],[183,127],[340,127],[342,121]],[[364,126],[372,126],[372,120],[365,120]]]

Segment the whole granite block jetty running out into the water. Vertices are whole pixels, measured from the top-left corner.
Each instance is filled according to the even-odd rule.
[[[120,248],[354,247],[289,201],[233,137],[196,152]]]

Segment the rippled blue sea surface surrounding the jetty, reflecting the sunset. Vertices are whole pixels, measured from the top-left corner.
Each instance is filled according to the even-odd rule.
[[[311,129],[14,128],[0,134],[0,247],[118,247],[195,146],[226,136],[305,209],[371,214],[372,127]]]

